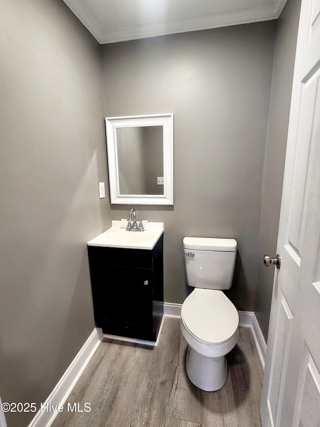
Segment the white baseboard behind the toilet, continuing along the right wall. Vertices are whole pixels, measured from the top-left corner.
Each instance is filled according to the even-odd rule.
[[[182,304],[174,304],[171,302],[165,302],[163,304],[163,314],[168,317],[180,317]],[[251,329],[255,346],[261,361],[262,368],[264,369],[266,343],[256,320],[253,311],[240,311],[239,314],[239,326],[248,327]]]

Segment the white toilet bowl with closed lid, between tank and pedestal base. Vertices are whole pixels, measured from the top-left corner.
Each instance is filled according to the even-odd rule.
[[[207,357],[225,355],[238,338],[238,312],[216,289],[195,288],[182,304],[180,324],[189,345]]]

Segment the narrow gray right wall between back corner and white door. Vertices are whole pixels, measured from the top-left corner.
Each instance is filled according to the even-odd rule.
[[[272,257],[276,254],[300,4],[300,0],[288,0],[276,26],[254,308],[265,339],[268,332],[274,268],[265,268],[262,258],[264,254]]]

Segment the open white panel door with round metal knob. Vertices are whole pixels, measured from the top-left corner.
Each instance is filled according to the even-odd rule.
[[[277,253],[262,425],[320,427],[320,0],[301,5]]]

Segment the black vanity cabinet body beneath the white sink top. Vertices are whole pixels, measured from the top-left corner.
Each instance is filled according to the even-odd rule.
[[[155,341],[163,316],[163,234],[150,250],[87,248],[96,326]]]

